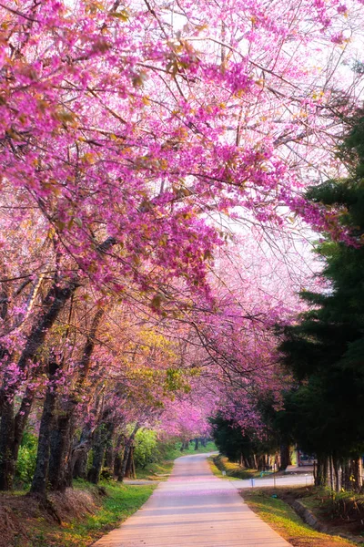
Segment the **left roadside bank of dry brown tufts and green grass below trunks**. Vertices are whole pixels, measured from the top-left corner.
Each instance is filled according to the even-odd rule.
[[[0,547],[86,547],[143,505],[156,485],[75,481],[64,494],[49,494],[52,511],[25,491],[0,495]]]

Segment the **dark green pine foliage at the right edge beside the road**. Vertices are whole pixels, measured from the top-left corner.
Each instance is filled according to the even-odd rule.
[[[302,449],[348,458],[364,452],[364,118],[340,149],[349,176],[311,188],[311,201],[335,207],[351,244],[325,236],[317,247],[329,282],[303,292],[310,309],[286,328],[283,362],[297,379],[278,417]]]

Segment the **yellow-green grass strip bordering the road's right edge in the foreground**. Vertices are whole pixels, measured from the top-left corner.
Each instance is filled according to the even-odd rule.
[[[244,490],[244,501],[293,547],[351,547],[354,543],[339,536],[316,532],[298,517],[287,503],[272,498],[271,491]]]

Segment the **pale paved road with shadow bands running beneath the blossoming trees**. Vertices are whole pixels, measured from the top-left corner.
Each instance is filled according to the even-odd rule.
[[[289,547],[248,509],[238,482],[217,479],[206,454],[179,458],[147,503],[94,546]]]

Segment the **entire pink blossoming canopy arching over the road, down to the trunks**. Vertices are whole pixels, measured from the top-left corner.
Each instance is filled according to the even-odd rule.
[[[287,439],[292,381],[359,450],[361,4],[0,3],[0,489],[29,427],[40,496],[143,428]]]

